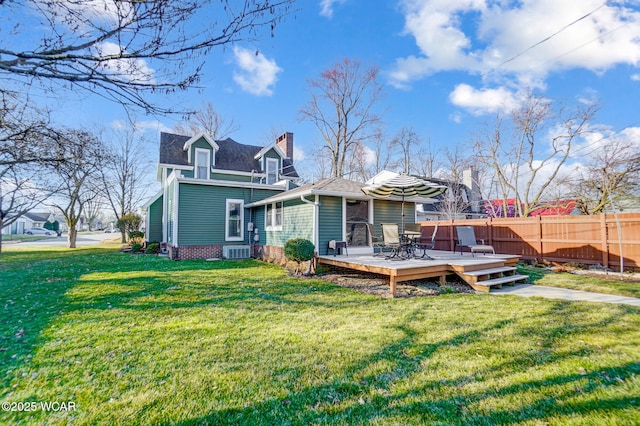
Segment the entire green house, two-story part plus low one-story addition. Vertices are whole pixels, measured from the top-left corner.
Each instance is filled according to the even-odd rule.
[[[329,241],[346,241],[349,254],[373,252],[367,223],[400,223],[399,199],[374,200],[364,183],[322,179],[297,187],[293,134],[266,147],[232,139],[214,141],[162,133],[161,191],[144,206],[146,239],[170,258],[281,258],[291,238],[327,253]],[[429,202],[429,200],[422,200]],[[407,201],[405,223],[415,223]]]

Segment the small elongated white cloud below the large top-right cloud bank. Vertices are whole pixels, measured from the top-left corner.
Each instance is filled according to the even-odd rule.
[[[476,90],[468,84],[457,85],[449,100],[474,115],[509,112],[520,104],[518,96],[504,87]]]

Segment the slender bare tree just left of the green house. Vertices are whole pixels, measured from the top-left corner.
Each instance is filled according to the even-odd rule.
[[[135,123],[131,128],[113,132],[109,139],[110,143],[102,143],[106,151],[100,168],[101,193],[118,221],[134,212],[148,195],[145,175],[150,164],[144,155],[143,133],[136,129]],[[124,243],[126,232],[120,231]]]

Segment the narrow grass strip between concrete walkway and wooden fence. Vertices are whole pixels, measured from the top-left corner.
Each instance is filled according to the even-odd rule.
[[[572,290],[593,291],[619,296],[640,297],[640,283],[621,281],[619,275],[593,278],[573,275],[568,272],[551,272],[547,269],[518,265],[518,272],[529,275],[532,284]]]

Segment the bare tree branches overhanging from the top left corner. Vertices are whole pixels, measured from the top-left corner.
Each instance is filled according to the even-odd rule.
[[[273,34],[294,0],[0,1],[0,75],[81,88],[124,106],[172,112],[146,95],[198,83],[206,55]],[[26,17],[24,22],[13,17]],[[59,90],[56,92],[58,93]]]

